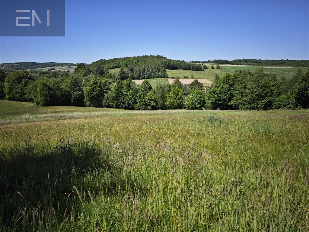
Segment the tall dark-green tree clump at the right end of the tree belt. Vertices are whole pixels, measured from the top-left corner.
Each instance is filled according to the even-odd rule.
[[[309,69],[277,79],[262,69],[216,76],[207,92],[207,109],[271,110],[309,108]]]

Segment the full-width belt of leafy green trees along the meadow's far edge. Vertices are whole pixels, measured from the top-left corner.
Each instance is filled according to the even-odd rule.
[[[264,73],[261,69],[255,72],[235,71],[221,77],[216,75],[214,83],[205,92],[197,80],[184,86],[179,79],[175,79],[171,85],[158,84],[152,88],[145,79],[141,85],[137,85],[132,80],[135,77],[134,67],[138,70],[144,67],[135,65],[134,59],[122,61],[128,62],[127,68],[121,68],[118,75],[109,73],[104,65],[99,65],[104,60],[87,67],[78,64],[74,73],[42,71],[37,75],[25,70],[5,72],[0,69],[0,99],[35,102],[40,106],[72,105],[132,110],[309,108],[309,70],[305,73],[299,70],[290,80],[278,79],[276,75]],[[155,67],[150,69],[152,72],[147,78],[160,73]]]

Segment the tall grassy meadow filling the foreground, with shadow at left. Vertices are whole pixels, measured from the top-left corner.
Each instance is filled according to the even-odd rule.
[[[309,230],[308,110],[81,108],[0,101],[1,231]]]

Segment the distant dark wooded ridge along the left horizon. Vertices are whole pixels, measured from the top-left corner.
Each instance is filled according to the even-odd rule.
[[[57,62],[16,62],[16,63],[2,63],[0,67],[4,71],[14,71],[14,70],[24,70],[24,69],[36,69],[36,68],[46,68],[54,66],[76,66],[74,63],[57,63]]]

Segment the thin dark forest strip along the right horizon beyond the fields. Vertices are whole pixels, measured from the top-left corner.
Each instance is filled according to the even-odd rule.
[[[256,66],[292,66],[309,67],[309,60],[261,60],[261,59],[237,59],[237,60],[207,60],[192,61],[193,63],[213,63],[213,64],[236,64],[236,65],[256,65]]]

